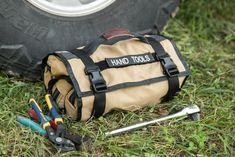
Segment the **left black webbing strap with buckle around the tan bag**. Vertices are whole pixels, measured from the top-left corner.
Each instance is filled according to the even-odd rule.
[[[100,73],[99,67],[85,52],[83,52],[83,50],[76,49],[70,52],[79,57],[85,65],[85,73],[89,76],[93,93],[95,96],[92,116],[98,118],[103,115],[105,110],[105,92],[107,91],[106,82],[102,74]]]

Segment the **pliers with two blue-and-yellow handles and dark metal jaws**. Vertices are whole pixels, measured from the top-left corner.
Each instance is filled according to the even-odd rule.
[[[76,135],[71,135],[67,132],[66,127],[63,124],[63,120],[60,115],[57,113],[54,101],[51,95],[47,94],[45,96],[47,106],[50,110],[50,114],[54,119],[57,129],[54,130],[51,127],[50,122],[47,120],[46,116],[42,113],[41,108],[34,99],[30,99],[30,104],[33,110],[36,112],[39,122],[42,125],[42,128],[46,130],[49,140],[55,144],[57,149],[62,152],[69,152],[76,150],[76,146],[80,145],[81,137]]]

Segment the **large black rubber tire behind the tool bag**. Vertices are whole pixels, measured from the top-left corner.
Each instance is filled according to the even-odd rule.
[[[77,18],[48,14],[26,0],[0,1],[0,67],[39,80],[41,60],[56,50],[87,44],[111,28],[161,31],[179,0],[116,0],[104,10]]]

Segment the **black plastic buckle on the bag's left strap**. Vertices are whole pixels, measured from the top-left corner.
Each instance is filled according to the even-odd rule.
[[[102,93],[102,92],[107,91],[106,82],[100,73],[99,67],[97,66],[89,67],[85,70],[85,73],[89,75],[92,89],[96,93]]]

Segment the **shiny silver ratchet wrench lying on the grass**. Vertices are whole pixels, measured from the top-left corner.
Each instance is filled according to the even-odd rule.
[[[106,132],[105,135],[106,136],[117,135],[117,134],[125,133],[125,132],[128,132],[128,131],[137,130],[137,129],[140,129],[140,128],[143,128],[143,127],[146,127],[146,126],[149,126],[149,125],[160,124],[163,121],[170,120],[170,119],[173,119],[173,118],[179,118],[179,117],[189,117],[193,121],[197,121],[197,120],[200,119],[200,114],[199,113],[200,113],[200,108],[197,105],[192,105],[192,106],[185,107],[181,111],[179,111],[177,113],[174,113],[172,115],[168,115],[168,116],[164,116],[164,117],[159,118],[159,119],[140,122],[140,123],[133,124],[133,125],[130,125],[130,126],[127,126],[127,127],[115,129],[113,131]]]

